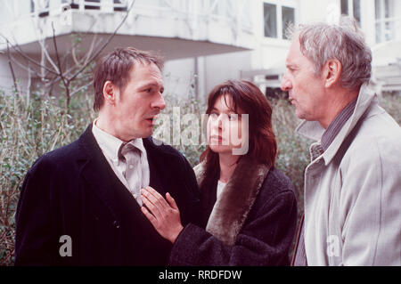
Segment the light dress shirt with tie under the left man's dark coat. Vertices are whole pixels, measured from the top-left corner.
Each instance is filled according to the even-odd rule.
[[[92,125],[94,139],[99,144],[114,174],[131,192],[136,202],[142,206],[140,191],[149,185],[151,175],[142,139],[138,138],[130,142],[123,142],[97,127],[96,120]]]

